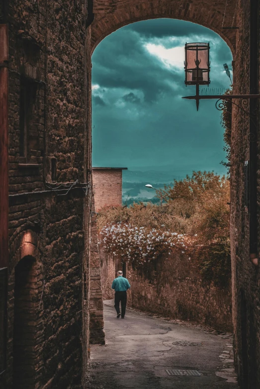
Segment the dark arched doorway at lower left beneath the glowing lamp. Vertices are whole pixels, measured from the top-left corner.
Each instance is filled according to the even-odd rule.
[[[37,280],[35,260],[27,256],[15,268],[13,389],[35,388]]]

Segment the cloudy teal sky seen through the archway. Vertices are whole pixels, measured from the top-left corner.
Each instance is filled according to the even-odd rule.
[[[213,31],[186,21],[137,22],[107,36],[92,56],[93,166],[130,169],[214,170],[223,129],[215,100],[194,101],[184,85],[185,42],[210,42],[210,88],[227,88],[227,44]],[[202,88],[202,87],[201,87]]]

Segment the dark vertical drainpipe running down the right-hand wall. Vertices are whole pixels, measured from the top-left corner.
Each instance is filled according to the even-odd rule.
[[[250,1],[250,93],[259,93],[258,80],[258,17],[259,0]],[[257,170],[258,170],[258,99],[250,100],[250,259],[258,264],[258,215],[257,215]]]

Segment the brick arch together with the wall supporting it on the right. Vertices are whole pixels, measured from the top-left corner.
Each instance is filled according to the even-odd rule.
[[[234,16],[234,8],[237,13]],[[233,93],[249,94],[256,90],[259,93],[259,42],[255,39],[259,33],[259,19],[256,11],[259,1],[228,1],[226,0],[104,0],[95,1],[93,12],[95,19],[89,28],[88,39],[91,41],[91,52],[107,35],[116,29],[136,21],[173,18],[190,21],[203,25],[218,33],[230,47],[233,54]],[[256,8],[255,8],[256,7]],[[223,18],[224,24],[223,24]],[[223,27],[229,27],[222,29]],[[235,26],[235,29],[231,29]],[[251,39],[250,39],[251,38]],[[253,56],[252,56],[253,54]],[[89,58],[90,60],[90,58]],[[90,72],[89,72],[90,74]],[[253,107],[253,104],[252,104]],[[251,212],[255,215],[252,219],[245,211],[245,162],[252,159],[257,166],[259,160],[259,145],[250,137],[253,129],[249,118],[238,107],[232,108],[232,137],[231,137],[231,260],[232,260],[232,310],[234,324],[234,354],[235,366],[241,374],[247,361],[243,361],[243,348],[250,356],[248,360],[248,374],[250,382],[260,382],[260,371],[255,369],[255,355],[260,354],[259,333],[260,312],[258,307],[259,271],[254,269],[249,252],[250,244],[254,243],[254,255],[256,242],[260,240],[259,212],[259,175],[252,173],[252,190],[255,198],[252,200]],[[90,110],[89,110],[90,112]],[[259,113],[259,107],[256,109]],[[255,115],[255,114],[254,114]],[[259,127],[259,115],[256,118]],[[256,126],[255,126],[256,127]],[[89,126],[89,132],[91,127]],[[254,130],[255,131],[255,130]],[[255,133],[254,133],[255,134]],[[254,135],[253,134],[253,135]],[[257,136],[254,135],[254,136]],[[253,148],[252,145],[256,147]],[[254,167],[255,168],[255,167]],[[259,249],[259,247],[258,247]],[[259,254],[258,254],[259,255]],[[254,257],[255,258],[255,257]],[[245,290],[247,296],[247,317],[241,323],[241,307],[239,303],[240,289]],[[242,307],[245,313],[245,307]],[[241,324],[243,331],[241,331]],[[242,333],[243,332],[243,333]],[[249,336],[252,334],[252,339]],[[247,340],[247,342],[245,341]],[[242,342],[244,346],[242,347]],[[255,377],[251,378],[251,372]],[[255,385],[255,384],[254,384]],[[254,386],[253,385],[253,386]]]

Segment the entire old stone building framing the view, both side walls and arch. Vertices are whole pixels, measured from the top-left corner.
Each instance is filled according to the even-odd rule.
[[[259,1],[226,3],[1,0],[2,388],[87,388],[91,53],[105,36],[129,23],[159,17],[188,20],[211,28],[229,45],[233,93],[256,94]],[[258,99],[243,109],[233,105],[234,351],[245,389],[260,387],[258,114]],[[95,260],[92,268],[97,264]]]

